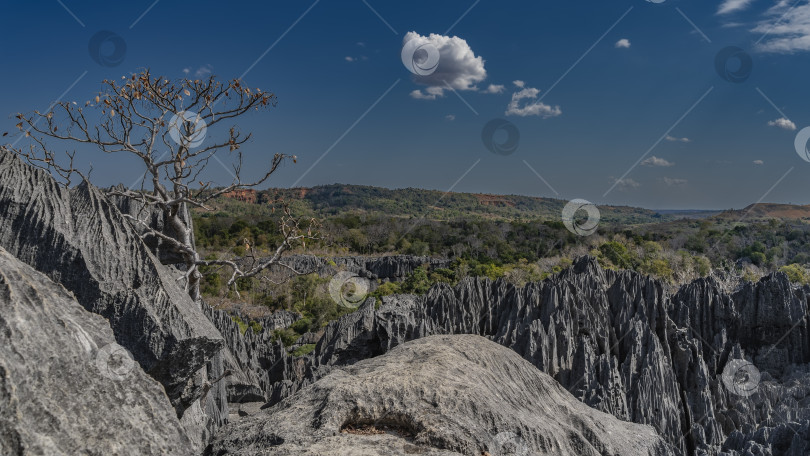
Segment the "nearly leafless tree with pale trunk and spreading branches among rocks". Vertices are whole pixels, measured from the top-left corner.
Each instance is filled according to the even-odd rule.
[[[252,133],[243,135],[233,122],[251,110],[274,107],[276,102],[273,93],[248,88],[239,79],[223,83],[211,76],[205,80],[173,81],[154,77],[144,70],[120,81],[105,80],[102,90],[84,106],[59,101],[46,113],[18,114],[17,128],[25,130],[31,144],[25,150],[4,147],[61,177],[64,185],[70,185],[73,174],[83,179],[87,176],[74,166],[75,151],[68,152],[67,159],[58,159],[46,139],[89,144],[109,154],[137,156],[145,165],[140,188],[113,193],[138,200],[143,208],[157,208],[165,224],[172,228],[171,234],[157,230],[137,216],[125,216],[140,226],[145,236],[160,238],[173,254],[182,258],[184,274],[178,280],[183,281],[194,300],[200,298],[200,266],[228,268],[228,287],[238,294],[239,278],[254,277],[273,265],[285,266],[279,261],[285,251],[318,237],[316,220],[297,219],[282,205],[279,222],[282,241],[268,259],[256,260],[255,251],[249,248],[249,260],[204,260],[194,245],[190,207],[210,209],[208,203],[214,198],[261,185],[284,161],[295,161],[295,156],[274,154],[262,177],[251,182],[242,180],[240,148]],[[214,139],[215,135],[209,132],[218,127],[227,129],[227,134]],[[210,160],[219,160],[216,154],[223,151],[231,155],[233,181],[225,187],[201,181]]]

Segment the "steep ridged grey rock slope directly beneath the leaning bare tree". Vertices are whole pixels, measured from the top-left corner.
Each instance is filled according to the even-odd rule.
[[[178,415],[202,396],[201,371],[224,342],[101,191],[61,187],[0,152],[0,246],[106,318]]]

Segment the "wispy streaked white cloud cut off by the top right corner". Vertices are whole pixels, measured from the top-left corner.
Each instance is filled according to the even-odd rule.
[[[759,51],[782,54],[810,51],[810,3],[792,6],[779,0],[751,31],[767,34],[767,39],[756,47]]]

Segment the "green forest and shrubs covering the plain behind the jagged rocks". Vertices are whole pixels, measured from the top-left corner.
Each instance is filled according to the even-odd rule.
[[[304,196],[302,196],[302,194]],[[810,283],[810,224],[807,220],[754,219],[738,214],[680,219],[633,208],[603,208],[599,230],[588,237],[570,233],[559,219],[562,201],[528,197],[448,194],[325,186],[307,191],[260,192],[257,203],[219,198],[217,211],[195,212],[198,246],[208,258],[244,253],[245,245],[268,255],[278,243],[279,219],[271,200],[284,199],[296,215],[322,222],[324,239],[307,245],[321,256],[412,254],[449,258],[447,268],[417,268],[402,282],[380,282],[371,293],[424,294],[437,283],[455,285],[465,277],[505,279],[522,286],[559,273],[574,258],[590,254],[608,269],[632,269],[670,283],[733,270],[746,280],[782,271],[794,283]],[[330,264],[334,267],[333,261]],[[235,299],[226,277],[209,273],[203,293]],[[241,300],[268,310],[291,310],[302,318],[272,337],[285,346],[348,313],[329,296],[329,278],[305,275],[272,284],[240,279]],[[237,322],[239,323],[239,322]],[[254,325],[255,324],[255,325]],[[244,333],[256,322],[239,323]]]

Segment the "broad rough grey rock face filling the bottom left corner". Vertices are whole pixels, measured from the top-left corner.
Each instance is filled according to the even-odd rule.
[[[0,248],[0,454],[192,451],[163,388],[107,321]]]

